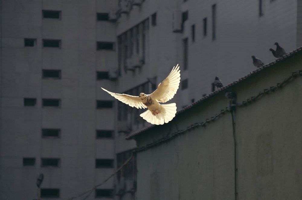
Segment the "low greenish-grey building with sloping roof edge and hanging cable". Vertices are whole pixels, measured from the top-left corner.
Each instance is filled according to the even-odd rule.
[[[137,199],[300,199],[301,64],[299,48],[130,135]]]

